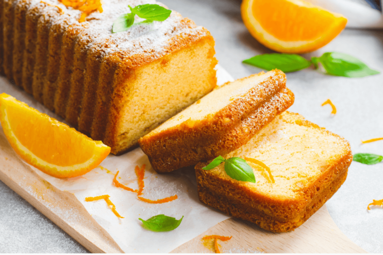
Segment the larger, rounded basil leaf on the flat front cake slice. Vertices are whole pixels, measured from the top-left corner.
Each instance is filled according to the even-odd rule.
[[[232,157],[225,161],[225,172],[237,181],[249,181],[255,183],[253,169],[240,157]]]

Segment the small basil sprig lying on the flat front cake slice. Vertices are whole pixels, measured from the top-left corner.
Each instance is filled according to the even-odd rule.
[[[211,170],[220,165],[222,162],[225,162],[225,172],[234,180],[255,183],[253,169],[246,163],[246,160],[240,157],[224,159],[222,156],[218,156],[214,158],[213,161],[211,161],[207,166],[202,167],[202,169]]]

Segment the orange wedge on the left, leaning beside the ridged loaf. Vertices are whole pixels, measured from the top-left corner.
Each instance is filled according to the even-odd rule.
[[[110,152],[101,141],[93,141],[5,93],[0,94],[0,122],[16,153],[54,177],[83,175]]]

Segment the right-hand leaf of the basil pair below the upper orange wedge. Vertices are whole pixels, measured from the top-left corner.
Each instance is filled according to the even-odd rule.
[[[380,74],[373,70],[359,59],[340,52],[326,52],[321,57],[312,57],[311,61],[318,68],[321,63],[327,74],[344,77],[365,77]]]

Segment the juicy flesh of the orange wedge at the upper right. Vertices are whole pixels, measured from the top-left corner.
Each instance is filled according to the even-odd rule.
[[[286,42],[318,39],[322,34],[327,33],[329,27],[336,20],[331,12],[312,6],[298,5],[294,2],[289,0],[254,0],[252,11],[266,32]],[[320,22],[318,22],[318,16],[320,16]]]

